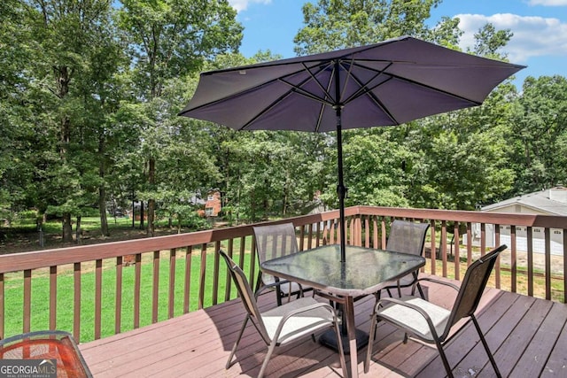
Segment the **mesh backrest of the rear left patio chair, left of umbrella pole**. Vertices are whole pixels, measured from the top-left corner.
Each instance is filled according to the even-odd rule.
[[[299,252],[298,240],[293,223],[283,223],[253,228],[258,262],[261,264],[272,258]],[[274,277],[262,274],[264,284],[274,282]]]

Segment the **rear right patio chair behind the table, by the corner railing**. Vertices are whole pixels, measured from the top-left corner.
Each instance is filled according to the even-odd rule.
[[[390,228],[390,235],[388,236],[388,241],[386,242],[387,251],[411,253],[414,255],[423,255],[423,246],[425,244],[425,236],[427,235],[427,230],[429,229],[429,223],[416,223],[408,220],[394,220]],[[390,289],[398,290],[398,297],[401,297],[401,288],[408,288],[417,282],[417,274],[419,271],[412,272],[411,274],[405,275],[395,282],[387,282],[382,288],[386,290],[388,295],[392,297],[392,292]],[[419,282],[417,282],[417,289],[422,298],[423,289]],[[377,301],[380,299],[379,290],[376,294]]]

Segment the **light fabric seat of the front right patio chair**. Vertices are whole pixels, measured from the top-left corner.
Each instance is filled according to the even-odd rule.
[[[440,337],[445,332],[447,327],[447,320],[451,312],[446,308],[440,307],[439,305],[434,305],[431,302],[423,300],[420,297],[404,296],[400,298],[401,301],[408,303],[410,305],[415,305],[426,312]],[[423,315],[414,309],[403,305],[386,305],[381,308],[378,312],[379,318],[384,318],[391,321],[394,324],[400,324],[404,328],[409,328],[418,338],[423,341],[434,343],[434,337],[431,335],[431,329],[427,324],[427,320],[423,318]]]

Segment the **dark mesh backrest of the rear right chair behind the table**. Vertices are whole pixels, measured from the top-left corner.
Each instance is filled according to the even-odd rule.
[[[429,223],[394,220],[390,227],[386,250],[421,256],[428,228]]]

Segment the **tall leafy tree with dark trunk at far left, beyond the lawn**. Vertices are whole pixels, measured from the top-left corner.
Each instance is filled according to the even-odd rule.
[[[44,157],[44,169],[39,173],[44,180],[43,201],[48,204],[47,212],[62,217],[63,240],[70,242],[71,217],[80,217],[92,199],[90,190],[97,188],[93,181],[97,174],[92,174],[90,165],[92,141],[86,122],[90,118],[85,110],[86,103],[100,93],[93,93],[82,80],[101,68],[93,47],[100,46],[100,38],[107,36],[110,2],[23,3],[31,38],[27,42],[35,50],[29,80],[42,96],[35,110],[44,112],[40,122],[50,133],[50,148],[56,151]]]

